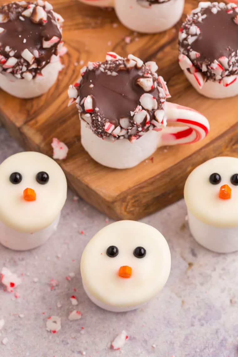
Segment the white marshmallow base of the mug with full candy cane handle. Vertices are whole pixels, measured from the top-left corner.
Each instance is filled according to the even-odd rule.
[[[152,155],[158,146],[162,131],[149,130],[140,139],[131,143],[128,139],[112,142],[93,134],[81,120],[81,143],[84,149],[99,164],[113,169],[128,169],[140,164]]]

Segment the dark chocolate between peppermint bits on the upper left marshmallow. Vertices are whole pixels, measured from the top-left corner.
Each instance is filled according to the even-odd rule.
[[[27,5],[29,4],[35,3],[27,2]],[[30,17],[21,15],[21,13],[27,9],[27,5],[22,6],[16,2],[12,2],[0,7],[0,14],[4,14],[8,19],[7,22],[0,23],[0,27],[6,30],[0,34],[0,55],[3,55],[6,59],[10,57],[9,52],[5,50],[6,46],[9,46],[10,49],[15,51],[13,57],[19,61],[14,66],[12,74],[21,74],[22,65],[24,65],[27,70],[29,70],[30,67],[29,62],[21,57],[22,51],[28,49],[32,54],[34,50],[39,51],[39,58],[35,58],[34,60],[34,63],[37,64],[37,68],[29,70],[34,77],[49,64],[53,54],[57,55],[57,46],[61,41],[62,35],[51,10],[45,10],[47,13],[47,22],[44,25],[35,24]],[[45,9],[45,6],[43,6],[43,8]],[[20,16],[24,20],[21,20],[19,18]],[[48,41],[53,36],[59,37],[59,41],[50,48],[43,48],[42,39],[44,38]],[[24,41],[24,39],[26,41]]]

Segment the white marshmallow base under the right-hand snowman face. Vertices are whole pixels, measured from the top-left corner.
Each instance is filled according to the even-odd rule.
[[[188,210],[188,224],[193,238],[203,247],[216,253],[238,250],[238,227],[216,227],[198,220]]]

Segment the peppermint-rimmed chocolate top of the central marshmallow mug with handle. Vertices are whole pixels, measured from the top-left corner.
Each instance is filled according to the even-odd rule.
[[[139,139],[165,124],[163,104],[170,95],[157,69],[155,62],[108,52],[105,62],[82,68],[81,79],[69,88],[69,104],[76,101],[80,119],[98,137]]]

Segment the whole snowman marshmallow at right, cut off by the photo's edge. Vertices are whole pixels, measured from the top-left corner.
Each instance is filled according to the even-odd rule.
[[[238,250],[238,159],[215,157],[198,166],[184,187],[191,233],[218,253]]]

